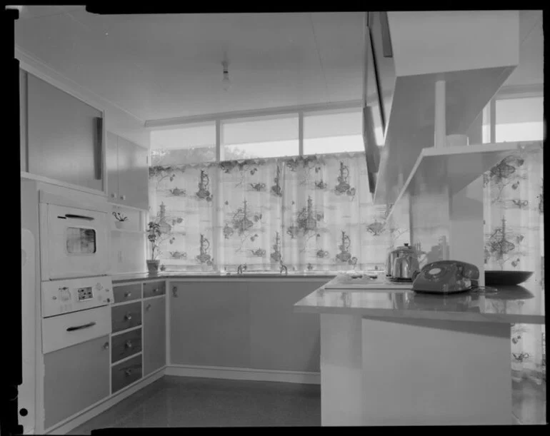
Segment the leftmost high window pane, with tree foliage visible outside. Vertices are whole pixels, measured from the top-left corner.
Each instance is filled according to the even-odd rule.
[[[216,161],[216,123],[151,132],[151,166]]]

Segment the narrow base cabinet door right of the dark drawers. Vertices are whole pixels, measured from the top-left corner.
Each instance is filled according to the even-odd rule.
[[[166,365],[166,298],[144,303],[144,375]]]

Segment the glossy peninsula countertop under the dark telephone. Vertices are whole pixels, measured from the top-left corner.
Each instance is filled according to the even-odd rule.
[[[498,292],[474,290],[432,295],[415,293],[406,288],[336,290],[321,286],[296,303],[294,311],[376,318],[544,324],[544,291],[539,284],[524,283],[493,288]]]

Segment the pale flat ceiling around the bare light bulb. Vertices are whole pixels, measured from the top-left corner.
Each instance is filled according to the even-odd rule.
[[[101,16],[84,6],[22,6],[15,36],[26,54],[149,121],[360,101],[363,19],[362,12]]]

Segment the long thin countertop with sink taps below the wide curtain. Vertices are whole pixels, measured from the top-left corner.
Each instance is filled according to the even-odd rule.
[[[111,275],[113,283],[125,283],[136,282],[144,280],[166,280],[171,279],[202,279],[202,280],[243,280],[243,279],[277,279],[277,280],[319,280],[328,282],[334,278],[334,274],[289,274],[281,275],[278,273],[244,273],[236,274],[231,273],[229,275],[212,274],[212,273],[129,273],[129,274],[114,274]]]

